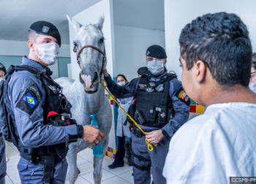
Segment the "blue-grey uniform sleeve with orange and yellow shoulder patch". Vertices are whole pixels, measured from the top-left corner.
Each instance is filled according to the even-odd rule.
[[[187,122],[189,118],[190,99],[181,82],[176,78],[170,81],[170,98],[173,100],[174,118],[162,130],[172,137],[173,134]]]

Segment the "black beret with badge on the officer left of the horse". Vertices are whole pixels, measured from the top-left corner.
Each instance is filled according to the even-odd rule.
[[[59,47],[61,47],[61,35],[59,34],[58,28],[56,28],[52,23],[37,21],[32,23],[29,30],[34,31],[37,34],[48,35],[56,38],[59,42]]]

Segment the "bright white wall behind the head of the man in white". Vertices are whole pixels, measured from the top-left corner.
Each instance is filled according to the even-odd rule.
[[[167,69],[173,70],[181,80],[181,68],[178,66],[178,37],[181,29],[198,16],[206,13],[228,12],[236,13],[249,28],[252,47],[256,51],[256,1],[255,0],[165,0],[165,45],[168,62]]]

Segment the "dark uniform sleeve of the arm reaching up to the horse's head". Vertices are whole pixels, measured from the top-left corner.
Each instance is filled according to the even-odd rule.
[[[117,99],[126,99],[135,96],[140,78],[135,78],[126,85],[120,86],[112,80],[112,77],[109,74],[108,77],[105,77],[105,81],[108,83],[108,90],[113,96]]]

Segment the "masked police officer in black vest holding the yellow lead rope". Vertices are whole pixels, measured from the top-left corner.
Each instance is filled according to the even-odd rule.
[[[162,176],[170,138],[189,118],[190,100],[176,74],[167,73],[167,55],[159,45],[146,50],[148,74],[133,79],[125,86],[113,82],[107,70],[104,77],[110,92],[119,99],[136,96],[135,121],[144,134],[136,127],[132,129],[132,151],[134,155],[133,175],[135,184],[151,183],[152,164],[154,184],[166,183]],[[153,146],[149,151],[145,139]]]

